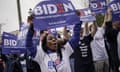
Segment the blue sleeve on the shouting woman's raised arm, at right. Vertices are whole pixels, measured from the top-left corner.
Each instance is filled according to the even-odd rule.
[[[73,35],[69,40],[69,43],[73,49],[77,48],[77,46],[79,44],[81,24],[82,24],[81,21],[80,21],[80,23],[75,24],[74,29],[73,29]]]

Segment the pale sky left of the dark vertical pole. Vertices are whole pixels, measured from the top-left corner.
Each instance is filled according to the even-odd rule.
[[[0,0],[0,24],[2,32],[18,29],[18,14],[16,0]]]

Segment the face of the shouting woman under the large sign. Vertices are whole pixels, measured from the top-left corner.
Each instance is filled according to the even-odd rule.
[[[47,46],[51,50],[57,50],[57,38],[53,34],[47,36]]]

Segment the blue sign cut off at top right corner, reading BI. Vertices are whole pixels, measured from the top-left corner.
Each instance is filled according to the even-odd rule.
[[[114,0],[109,3],[112,8],[112,21],[120,21],[120,0]]]

